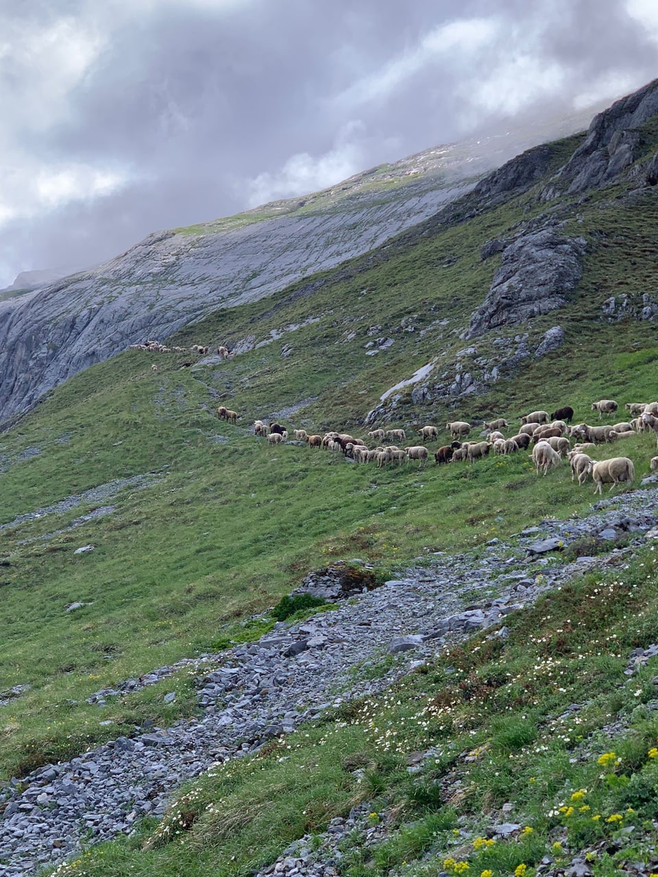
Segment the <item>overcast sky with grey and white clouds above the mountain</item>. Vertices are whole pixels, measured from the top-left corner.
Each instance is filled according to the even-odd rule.
[[[658,0],[0,0],[0,287],[658,76]]]

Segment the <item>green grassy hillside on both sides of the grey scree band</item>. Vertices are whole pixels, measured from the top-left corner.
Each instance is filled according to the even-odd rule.
[[[555,167],[574,142],[553,146]],[[561,310],[495,334],[529,332],[539,341],[559,322],[564,345],[528,360],[522,374],[498,381],[484,396],[415,405],[411,391],[403,391],[395,417],[382,425],[404,426],[411,435],[425,423],[512,421],[526,410],[563,403],[574,407],[576,420],[588,420],[595,399],[623,405],[658,396],[658,346],[650,328],[600,319],[609,296],[623,292],[640,301],[655,291],[653,190],[630,196],[630,183],[619,182],[577,203],[544,203],[537,197],[541,188],[433,233],[407,232],[377,253],[270,299],[220,310],[169,339],[171,346],[250,348],[230,360],[182,367],[189,354],[129,351],[77,375],[0,436],[0,691],[29,686],[0,706],[4,777],[130,734],[146,720],[166,725],[193,714],[187,671],[109,698],[102,708],[86,698],[154,667],[260,636],[272,624],[269,617],[247,619],[328,560],[358,556],[384,576],[428,551],[462,550],[540,517],[590,508],[590,484],[578,488],[567,467],[538,478],[525,453],[472,467],[376,469],[307,446],[271,447],[250,429],[255,417],[276,415],[310,432],[365,435],[363,418],[387,389],[431,361],[450,370],[468,344],[459,335],[499,264],[499,257],[480,259],[485,241],[547,210],[560,211],[566,233],[588,240],[583,281]],[[393,344],[372,355],[376,339]],[[477,339],[476,355],[495,357],[492,340]],[[238,424],[218,421],[220,402],[239,412]],[[440,432],[440,444],[446,439]],[[627,440],[623,452],[601,450],[601,456],[617,453],[645,474],[655,453],[653,434]],[[74,553],[85,545],[93,550]],[[440,851],[453,848],[452,858],[468,860],[469,873],[511,873],[537,864],[554,837],[583,846],[607,838],[598,830],[611,833],[619,824],[572,831],[561,816],[547,816],[546,802],[587,788],[593,796],[587,806],[607,819],[609,810],[626,806],[629,785],[654,788],[647,752],[658,727],[650,709],[633,709],[653,697],[650,665],[640,683],[623,675],[628,650],[648,645],[658,632],[653,565],[647,552],[619,581],[614,574],[590,577],[569,594],[519,613],[511,619],[504,656],[476,638],[456,654],[438,656],[434,667],[383,702],[359,704],[328,717],[308,738],[304,731],[262,759],[223,768],[194,792],[190,807],[201,815],[190,821],[190,834],[163,844],[156,832],[146,852],[135,840],[106,846],[84,859],[86,872],[132,867],[138,873],[244,874],[304,832],[321,831],[357,801],[373,802],[373,812],[385,810],[393,825],[412,820],[414,828],[401,828],[374,856],[361,855],[354,838],[342,872],[354,877],[390,868],[436,873],[444,867]],[[623,602],[612,598],[622,591]],[[68,611],[74,602],[83,605]],[[572,624],[579,613],[580,626]],[[550,644],[562,617],[572,621],[569,630],[561,627],[554,652]],[[531,642],[528,629],[536,631]],[[613,649],[606,645],[612,639],[620,643]],[[553,659],[564,679],[558,691]],[[448,666],[456,675],[447,682]],[[476,677],[493,681],[480,690]],[[556,734],[556,717],[570,702],[589,698],[592,683],[604,694],[591,702],[583,728],[576,736]],[[473,685],[475,694],[466,696]],[[634,695],[633,686],[642,694]],[[176,692],[175,702],[163,702],[165,691]],[[427,720],[418,718],[420,703]],[[618,714],[628,722],[619,744],[608,747],[617,747],[621,758],[609,773],[625,775],[621,785],[599,776],[596,747],[582,757],[578,750],[571,763],[574,747]],[[373,731],[383,722],[399,729],[393,748]],[[440,752],[416,781],[404,758],[428,745]],[[281,747],[290,756],[284,767]],[[480,754],[465,759],[474,747]],[[366,782],[346,769],[350,756],[368,766]],[[447,794],[445,776],[459,777],[459,794]],[[266,813],[275,800],[281,824],[245,815],[245,802],[254,798]],[[533,832],[506,852],[502,844],[467,850],[477,815],[510,798]],[[218,809],[208,810],[210,802]],[[637,812],[645,821],[658,816],[649,802],[642,807]],[[225,824],[240,830],[227,835]],[[460,833],[464,825],[471,834]],[[145,825],[145,834],[152,828]],[[435,858],[423,858],[426,851]],[[81,873],[82,866],[75,867]]]

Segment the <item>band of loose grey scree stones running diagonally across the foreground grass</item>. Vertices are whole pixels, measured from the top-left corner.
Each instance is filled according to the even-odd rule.
[[[647,485],[597,503],[589,517],[547,519],[510,543],[492,539],[484,552],[438,553],[404,578],[357,595],[337,588],[341,570],[329,568],[307,576],[299,591],[333,599],[336,610],[301,624],[278,623],[254,643],[98,691],[89,702],[103,704],[188,667],[197,675],[201,712],[168,729],[136,728],[131,737],[11,781],[0,792],[0,877],[32,873],[89,841],[132,831],[139,816],[161,815],[182,781],[253,752],[329,706],[381,692],[442,644],[489,627],[504,637],[511,611],[602,562],[627,562],[633,545],[651,537],[657,512],[658,491]],[[548,559],[583,537],[610,550],[573,563]],[[630,545],[615,547],[629,538]],[[359,680],[359,667],[387,654],[397,655],[388,672]]]

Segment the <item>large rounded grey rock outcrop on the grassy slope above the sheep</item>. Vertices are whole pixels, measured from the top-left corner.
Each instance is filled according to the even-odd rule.
[[[504,248],[501,266],[470,318],[466,337],[560,308],[580,280],[585,248],[583,238],[568,238],[553,227],[520,235]]]

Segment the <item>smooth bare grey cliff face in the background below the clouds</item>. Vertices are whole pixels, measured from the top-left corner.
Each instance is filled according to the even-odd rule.
[[[0,420],[132,343],[364,253],[471,186],[428,177],[219,232],[158,232],[88,272],[0,301]]]

